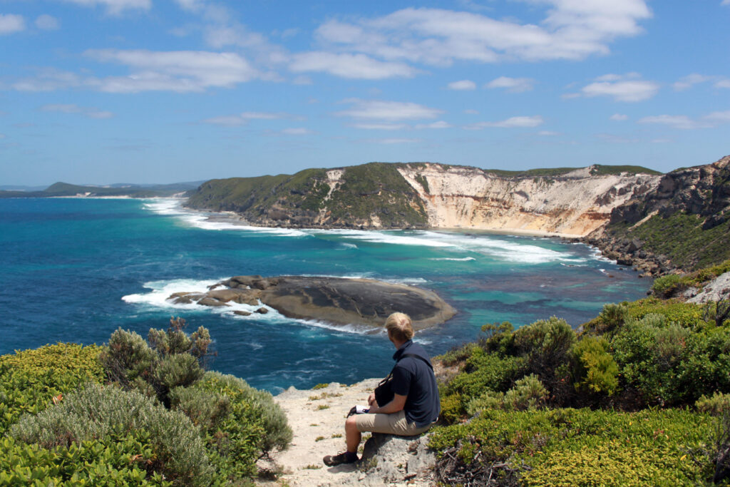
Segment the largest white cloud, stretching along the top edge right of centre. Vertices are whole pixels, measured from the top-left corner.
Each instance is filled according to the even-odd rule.
[[[472,12],[406,8],[377,18],[328,20],[317,30],[332,50],[387,61],[448,66],[454,61],[580,60],[639,34],[650,18],[644,0],[526,0],[548,7],[542,23],[496,20]]]

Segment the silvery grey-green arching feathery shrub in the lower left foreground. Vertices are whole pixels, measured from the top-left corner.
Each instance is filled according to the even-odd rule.
[[[149,434],[155,469],[180,485],[207,486],[215,472],[198,430],[182,413],[153,404],[142,394],[90,383],[55,407],[24,415],[10,434],[42,448],[68,448],[89,440]]]

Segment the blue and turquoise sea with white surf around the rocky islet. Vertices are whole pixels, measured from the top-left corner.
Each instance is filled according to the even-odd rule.
[[[605,302],[639,299],[650,282],[585,245],[448,231],[260,229],[216,221],[169,199],[0,199],[0,353],[55,342],[146,336],[170,316],[210,329],[211,367],[276,393],[288,386],[383,376],[392,345],[277,312],[174,306],[232,275],[370,277],[436,291],[458,310],[417,334],[432,354],[477,338],[480,326],[556,315],[572,326]],[[247,309],[239,305],[240,309]]]

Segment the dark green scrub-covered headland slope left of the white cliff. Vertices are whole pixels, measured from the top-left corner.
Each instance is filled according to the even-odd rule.
[[[367,225],[378,218],[390,228],[426,226],[423,203],[395,164],[373,162],[343,169],[337,188],[328,183],[329,169],[210,180],[191,195],[187,205],[237,212],[258,224],[314,226],[321,221],[346,227]],[[320,210],[325,215],[320,217]]]

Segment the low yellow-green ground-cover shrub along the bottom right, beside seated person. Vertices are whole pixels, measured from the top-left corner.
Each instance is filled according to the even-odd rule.
[[[493,409],[434,428],[429,447],[441,457],[437,476],[452,483],[487,485],[491,476],[495,485],[704,485],[714,430],[707,415],[688,410]]]

